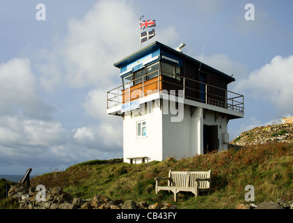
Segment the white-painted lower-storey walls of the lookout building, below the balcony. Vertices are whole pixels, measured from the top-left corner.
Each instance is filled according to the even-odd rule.
[[[163,114],[164,107],[159,108],[152,102],[152,108],[145,106],[145,114],[125,115],[123,121],[123,157],[124,162],[129,162],[129,157],[150,157],[153,160],[166,160],[175,157],[192,157],[203,154],[203,125],[218,125],[219,151],[227,150],[228,144],[222,143],[222,134],[227,133],[227,118],[221,115],[215,121],[213,111],[207,110],[203,118],[203,108],[194,107],[191,116],[191,107],[182,105],[184,118],[179,122],[171,122],[171,117],[176,115]],[[147,136],[136,137],[136,123],[146,121]],[[134,163],[140,163],[134,162]]]

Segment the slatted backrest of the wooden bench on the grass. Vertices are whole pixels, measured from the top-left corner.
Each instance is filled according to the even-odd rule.
[[[210,187],[210,178],[212,171],[169,171],[171,183],[168,186],[175,187],[195,187],[196,178],[208,180],[198,181],[198,188],[207,189]]]

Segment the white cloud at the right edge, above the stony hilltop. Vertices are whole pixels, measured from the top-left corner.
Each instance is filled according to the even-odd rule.
[[[292,111],[293,104],[293,55],[275,56],[260,70],[254,70],[246,79],[237,83],[237,89],[246,95],[269,102],[279,114]]]

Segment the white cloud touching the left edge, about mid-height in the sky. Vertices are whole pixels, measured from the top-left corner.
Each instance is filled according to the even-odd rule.
[[[49,118],[53,107],[38,95],[35,75],[27,58],[11,59],[0,65],[0,114],[24,113],[35,118]]]

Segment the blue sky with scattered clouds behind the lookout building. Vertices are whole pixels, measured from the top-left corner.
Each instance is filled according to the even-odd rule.
[[[142,15],[157,25],[142,47],[186,43],[184,54],[235,77],[228,90],[244,95],[245,114],[229,121],[230,140],[293,116],[292,10],[285,0],[0,0],[0,174],[122,157],[106,92],[121,84],[113,63],[140,47]]]

